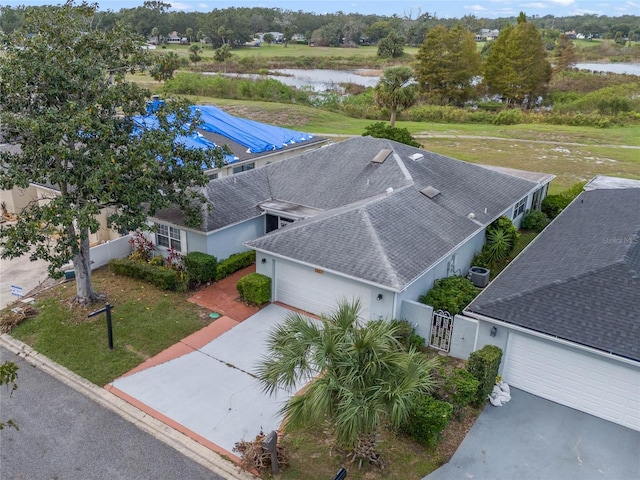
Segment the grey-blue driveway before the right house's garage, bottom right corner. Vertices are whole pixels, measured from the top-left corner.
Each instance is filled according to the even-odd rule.
[[[488,405],[451,461],[425,480],[640,478],[640,432],[517,389]]]

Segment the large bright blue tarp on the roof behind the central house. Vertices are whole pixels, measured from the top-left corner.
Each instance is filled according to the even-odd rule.
[[[309,133],[234,117],[211,105],[194,105],[191,109],[200,112],[200,129],[223,135],[247,147],[248,153],[280,150],[314,137]]]

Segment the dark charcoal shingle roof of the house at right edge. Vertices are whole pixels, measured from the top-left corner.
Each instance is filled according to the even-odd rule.
[[[640,182],[587,188],[467,311],[640,361]]]

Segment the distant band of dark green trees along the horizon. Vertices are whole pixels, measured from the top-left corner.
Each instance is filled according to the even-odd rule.
[[[33,8],[33,7],[29,7]],[[35,7],[38,8],[38,7]],[[41,7],[44,8],[44,7]],[[11,33],[24,24],[27,7],[2,7],[0,30]],[[189,41],[207,39],[214,48],[223,44],[231,47],[244,45],[258,32],[281,32],[284,41],[299,34],[305,41],[322,46],[351,46],[375,44],[391,32],[402,36],[407,45],[421,45],[427,32],[438,26],[452,28],[461,24],[474,33],[482,29],[501,30],[516,23],[516,17],[496,19],[465,15],[461,18],[438,18],[431,13],[412,13],[404,16],[363,15],[359,13],[316,14],[302,10],[279,8],[232,7],[213,9],[211,12],[172,11],[171,4],[160,0],[144,2],[135,8],[119,11],[96,11],[93,18],[97,29],[108,30],[116,23],[130,26],[133,32],[156,40],[178,32]],[[533,16],[529,23],[543,32],[549,31],[549,41],[561,33],[576,31],[596,38],[640,39],[640,16],[609,17],[595,14],[555,17]],[[554,33],[555,32],[555,33]]]

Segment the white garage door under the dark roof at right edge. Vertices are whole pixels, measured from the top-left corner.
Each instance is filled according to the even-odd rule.
[[[503,377],[516,388],[640,430],[640,369],[509,334]]]

